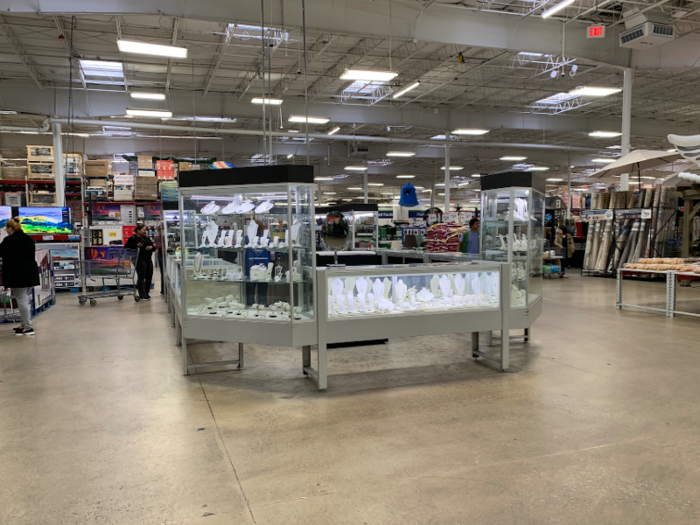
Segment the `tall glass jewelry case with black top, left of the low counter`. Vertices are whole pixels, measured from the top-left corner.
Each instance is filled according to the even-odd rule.
[[[313,168],[182,172],[179,184],[183,347],[314,344]]]

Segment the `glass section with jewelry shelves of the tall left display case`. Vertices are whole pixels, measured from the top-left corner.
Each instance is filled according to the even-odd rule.
[[[314,319],[312,185],[183,191],[187,314]]]

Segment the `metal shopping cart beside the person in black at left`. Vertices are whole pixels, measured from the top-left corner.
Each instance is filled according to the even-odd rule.
[[[78,303],[84,305],[88,300],[90,306],[97,304],[97,299],[116,297],[120,301],[133,293],[134,301],[141,300],[136,288],[136,259],[138,250],[112,248],[109,259],[80,261],[85,288],[99,287],[96,292],[78,294]],[[131,285],[129,290],[126,286]]]

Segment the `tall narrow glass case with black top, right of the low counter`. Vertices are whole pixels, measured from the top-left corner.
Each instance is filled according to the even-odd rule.
[[[544,181],[499,173],[481,187],[481,259],[511,263],[511,306],[530,306],[542,297]]]

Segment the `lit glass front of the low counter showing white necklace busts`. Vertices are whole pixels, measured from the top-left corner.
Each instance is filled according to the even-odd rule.
[[[500,272],[466,265],[364,266],[329,272],[329,319],[498,309]]]

